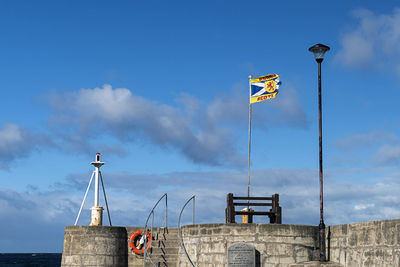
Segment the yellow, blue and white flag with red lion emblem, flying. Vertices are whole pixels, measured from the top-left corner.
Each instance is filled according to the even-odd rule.
[[[278,74],[269,74],[250,80],[250,104],[275,98],[281,84]]]

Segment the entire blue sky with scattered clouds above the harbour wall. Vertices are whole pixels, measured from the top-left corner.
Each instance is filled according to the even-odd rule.
[[[62,251],[96,152],[114,225],[165,192],[170,225],[194,194],[198,223],[224,222],[247,190],[249,74],[283,82],[253,105],[251,194],[317,225],[316,43],[325,222],[400,217],[395,1],[2,1],[0,32],[0,252]]]

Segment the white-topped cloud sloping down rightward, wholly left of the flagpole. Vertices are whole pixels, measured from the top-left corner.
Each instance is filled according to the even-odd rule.
[[[236,154],[226,132],[196,128],[196,121],[191,121],[178,108],[135,96],[125,88],[112,89],[105,85],[104,88],[53,95],[52,100],[62,117],[72,113],[72,117],[79,118],[75,134],[106,132],[122,141],[145,138],[160,146],[178,148],[195,162],[212,165],[232,164],[227,155]],[[59,102],[65,105],[58,105]],[[56,118],[58,116],[60,113]],[[69,120],[73,121],[73,118]],[[213,146],[215,143],[224,149]]]

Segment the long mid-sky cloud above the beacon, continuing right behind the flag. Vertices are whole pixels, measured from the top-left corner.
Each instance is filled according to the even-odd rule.
[[[234,140],[235,127],[247,124],[246,94],[236,92],[217,97],[209,105],[202,105],[193,96],[181,95],[178,101],[183,107],[179,107],[147,100],[126,88],[105,85],[53,94],[50,100],[56,111],[52,122],[62,126],[58,128],[70,129],[59,133],[63,142],[77,140],[79,143],[106,133],[122,142],[141,138],[159,146],[170,146],[196,163],[245,166],[245,156],[238,153]],[[269,114],[274,115],[257,115],[261,127],[265,127],[263,122],[289,127],[307,124],[293,89],[283,92],[279,100],[268,106]]]

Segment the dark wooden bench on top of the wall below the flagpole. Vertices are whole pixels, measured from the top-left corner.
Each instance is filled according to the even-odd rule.
[[[235,202],[235,200],[246,200],[246,202]],[[251,200],[257,200],[258,202],[250,202]],[[226,204],[226,223],[235,223],[236,215],[247,215],[248,223],[253,222],[253,216],[255,215],[268,216],[270,223],[282,223],[282,208],[279,207],[279,194],[274,194],[272,197],[235,197],[232,193],[229,193],[226,197]],[[270,206],[271,209],[269,211],[252,211],[251,209],[248,211],[236,211],[235,206]]]

